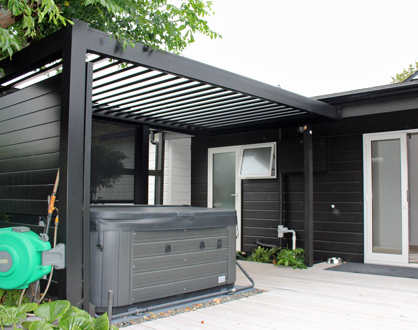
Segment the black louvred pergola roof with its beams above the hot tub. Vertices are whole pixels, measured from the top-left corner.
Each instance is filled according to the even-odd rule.
[[[80,51],[91,55],[87,62],[93,66],[90,83],[96,118],[144,123],[153,129],[198,136],[341,119],[338,107],[319,100],[142,44],[123,51],[109,35],[87,28],[83,22],[76,21],[71,29]],[[51,54],[45,54],[38,65],[59,59],[61,55],[53,52],[65,48],[67,31],[23,49],[20,56],[33,57],[41,49],[50,49]],[[14,61],[2,62],[10,62],[13,70],[19,66]],[[13,70],[10,79],[22,70]]]

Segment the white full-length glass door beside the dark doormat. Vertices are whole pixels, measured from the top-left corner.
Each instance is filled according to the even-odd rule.
[[[364,135],[364,262],[409,263],[406,133]]]

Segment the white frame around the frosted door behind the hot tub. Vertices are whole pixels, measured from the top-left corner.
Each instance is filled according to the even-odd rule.
[[[238,168],[240,163],[239,147],[222,147],[208,149],[208,208],[212,208],[213,202],[213,155],[215,153],[235,152],[235,209],[237,210],[237,242],[236,249],[241,251],[241,179],[238,178]]]

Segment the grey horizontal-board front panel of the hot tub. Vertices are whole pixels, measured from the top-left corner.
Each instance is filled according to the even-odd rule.
[[[228,227],[135,231],[133,302],[233,283],[228,234]]]

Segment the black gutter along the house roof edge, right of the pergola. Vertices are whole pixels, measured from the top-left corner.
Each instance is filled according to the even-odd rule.
[[[418,92],[418,81],[399,82],[396,84],[377,87],[350,90],[347,92],[321,95],[313,97],[332,105],[343,105],[345,103],[361,103],[364,100],[377,99],[381,97],[403,97],[405,94]]]

